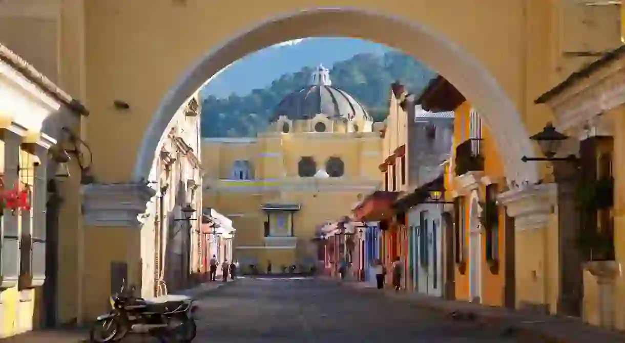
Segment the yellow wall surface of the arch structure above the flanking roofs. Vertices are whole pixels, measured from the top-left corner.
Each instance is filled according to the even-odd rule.
[[[406,8],[400,0],[384,3],[350,0],[329,1],[324,7],[354,7],[397,16],[448,37],[486,67],[527,121],[527,132],[534,132],[542,127],[549,113],[533,105],[532,100],[587,61],[571,59],[562,52],[602,51],[616,46],[615,41],[618,42],[620,36],[619,11],[612,8],[616,6],[589,9],[589,6],[573,6],[555,0],[488,1],[457,0],[451,6],[427,0]],[[143,134],[148,131],[146,128],[161,100],[197,57],[213,51],[235,32],[267,18],[319,7],[312,0],[297,4],[273,0],[247,4],[248,10],[241,13],[238,4],[227,2],[207,7],[199,2],[64,0],[39,6],[39,11],[33,12],[24,9],[34,6],[34,1],[15,3],[11,2],[11,8],[6,5],[0,10],[3,15],[0,39],[89,105],[93,115],[86,127],[96,160],[94,170],[103,181],[129,179]],[[231,20],[231,13],[238,14],[236,20]],[[462,80],[462,70],[456,69],[439,49],[415,44],[418,40],[411,34],[395,33],[405,32],[409,26],[383,17],[351,16],[345,14],[339,24],[327,27],[319,26],[318,22],[334,20],[336,16],[301,17],[285,21],[279,29],[268,28],[262,34],[246,37],[231,54],[216,60],[204,73],[198,70],[193,83],[199,86],[214,72],[261,47],[307,34],[334,34],[356,35],[399,47],[412,56],[421,57],[451,82],[464,86],[460,87],[461,92],[472,92],[469,82]],[[166,25],[163,25],[163,17],[168,18]],[[583,24],[587,21],[595,25],[589,28]],[[128,27],[133,27],[135,33],[128,34]],[[192,34],[200,31],[212,34]],[[138,36],[144,39],[137,40]],[[156,48],[158,53],[154,51],[155,41],[160,44]],[[496,52],[489,49],[492,42],[499,44]],[[173,46],[176,49],[169,49]],[[146,87],[145,75],[151,75],[149,87]],[[180,96],[186,97],[193,90]],[[112,103],[116,99],[131,105],[130,115],[114,108]],[[492,112],[485,115],[491,118],[502,115],[496,110]],[[120,115],[124,116],[125,125],[119,125]],[[504,128],[499,125],[493,132]],[[119,139],[110,140],[110,132],[118,133]]]

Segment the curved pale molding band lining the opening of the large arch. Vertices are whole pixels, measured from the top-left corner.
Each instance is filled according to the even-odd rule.
[[[316,17],[319,17],[317,22],[324,22],[324,25],[304,25],[304,21],[316,19]],[[354,24],[338,26],[345,22]],[[379,25],[363,24],[367,22],[377,22]],[[299,27],[297,30],[273,30],[276,27],[284,27],[285,24],[296,23],[301,24],[297,26]],[[412,46],[422,47],[415,57],[432,69],[441,72],[467,99],[471,99],[476,109],[482,114],[484,124],[491,128],[490,131],[493,133],[497,146],[506,149],[500,153],[500,156],[508,180],[514,180],[517,183],[524,181],[533,183],[538,180],[537,163],[521,161],[523,155],[535,155],[534,147],[527,139],[529,134],[526,132],[521,115],[484,65],[471,54],[461,51],[460,47],[446,37],[416,22],[411,22],[407,18],[352,7],[308,9],[269,17],[266,21],[249,27],[202,56],[179,77],[176,84],[161,100],[139,148],[133,172],[134,180],[140,180],[149,175],[156,147],[179,107],[186,104],[200,87],[227,67],[226,63],[231,64],[250,52],[272,44],[301,37],[360,37],[399,49],[407,48],[399,43],[402,37],[384,36],[382,38],[384,33],[376,31],[376,27],[386,27],[385,32],[402,32],[402,37],[412,37]],[[259,39],[259,37],[264,37],[264,32],[270,30],[273,30],[271,32],[274,34],[272,37],[275,41],[267,42]],[[371,31],[367,32],[367,30]],[[276,36],[276,32],[280,32],[282,36]],[[406,49],[404,51],[410,53]]]

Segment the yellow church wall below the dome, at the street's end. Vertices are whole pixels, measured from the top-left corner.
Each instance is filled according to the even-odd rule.
[[[264,133],[255,140],[204,140],[202,163],[209,170],[206,183],[212,186],[204,191],[203,204],[231,218],[237,229],[235,259],[256,258],[259,269],[265,271],[267,261],[277,269],[281,264],[297,264],[301,258],[315,258],[310,240],[317,226],[347,215],[359,195],[379,185],[381,141],[371,132]],[[340,178],[301,178],[297,162],[303,156],[314,157],[317,170],[325,169],[327,158],[340,157],[345,174]],[[256,180],[227,180],[235,160],[249,160]],[[211,173],[216,166],[219,173]],[[297,249],[264,248],[264,203],[301,205],[293,216]]]

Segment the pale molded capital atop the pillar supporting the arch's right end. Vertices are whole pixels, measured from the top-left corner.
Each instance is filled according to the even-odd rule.
[[[517,230],[546,228],[557,202],[556,183],[524,185],[497,196],[506,206],[507,215],[514,217]]]

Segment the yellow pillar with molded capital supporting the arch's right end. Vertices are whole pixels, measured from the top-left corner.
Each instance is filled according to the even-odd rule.
[[[523,185],[497,198],[514,217],[516,307],[544,312],[549,302],[556,301],[549,295],[557,292],[552,289],[557,284],[549,283],[557,278],[558,269],[557,225],[549,225],[556,211],[557,186]]]

